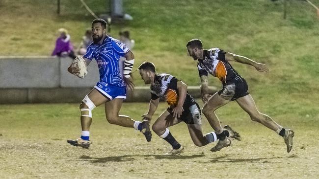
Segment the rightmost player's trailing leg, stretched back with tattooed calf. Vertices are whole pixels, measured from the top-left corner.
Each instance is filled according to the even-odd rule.
[[[237,100],[239,106],[249,114],[252,121],[259,122],[267,128],[275,131],[285,139],[287,145],[287,152],[292,150],[292,137],[294,132],[292,130],[286,130],[279,124],[277,124],[271,117],[261,113],[257,110],[256,104],[250,94],[240,97]]]

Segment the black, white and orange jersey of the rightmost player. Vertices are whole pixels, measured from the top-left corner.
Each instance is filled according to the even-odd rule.
[[[223,85],[233,83],[236,77],[241,78],[239,73],[225,59],[226,53],[219,48],[204,50],[204,59],[198,60],[197,63],[199,76],[207,76],[210,73],[217,77]]]

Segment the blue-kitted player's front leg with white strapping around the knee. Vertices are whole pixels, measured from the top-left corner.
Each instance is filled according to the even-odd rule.
[[[74,146],[88,148],[90,146],[90,126],[92,123],[92,110],[105,103],[108,99],[96,89],[91,90],[80,104],[81,137],[76,140],[68,140],[68,143]]]

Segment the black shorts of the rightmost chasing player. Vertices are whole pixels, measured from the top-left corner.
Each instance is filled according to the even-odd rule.
[[[236,77],[233,83],[223,85],[223,89],[219,90],[218,94],[226,100],[234,101],[249,94],[248,85],[245,79]]]

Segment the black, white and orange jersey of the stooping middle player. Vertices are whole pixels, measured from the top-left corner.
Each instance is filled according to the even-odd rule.
[[[152,99],[158,99],[159,97],[165,98],[168,105],[176,106],[178,102],[178,89],[177,82],[179,79],[166,73],[156,74],[154,84],[151,85]],[[183,108],[187,108],[195,104],[194,98],[186,93],[186,99]]]

